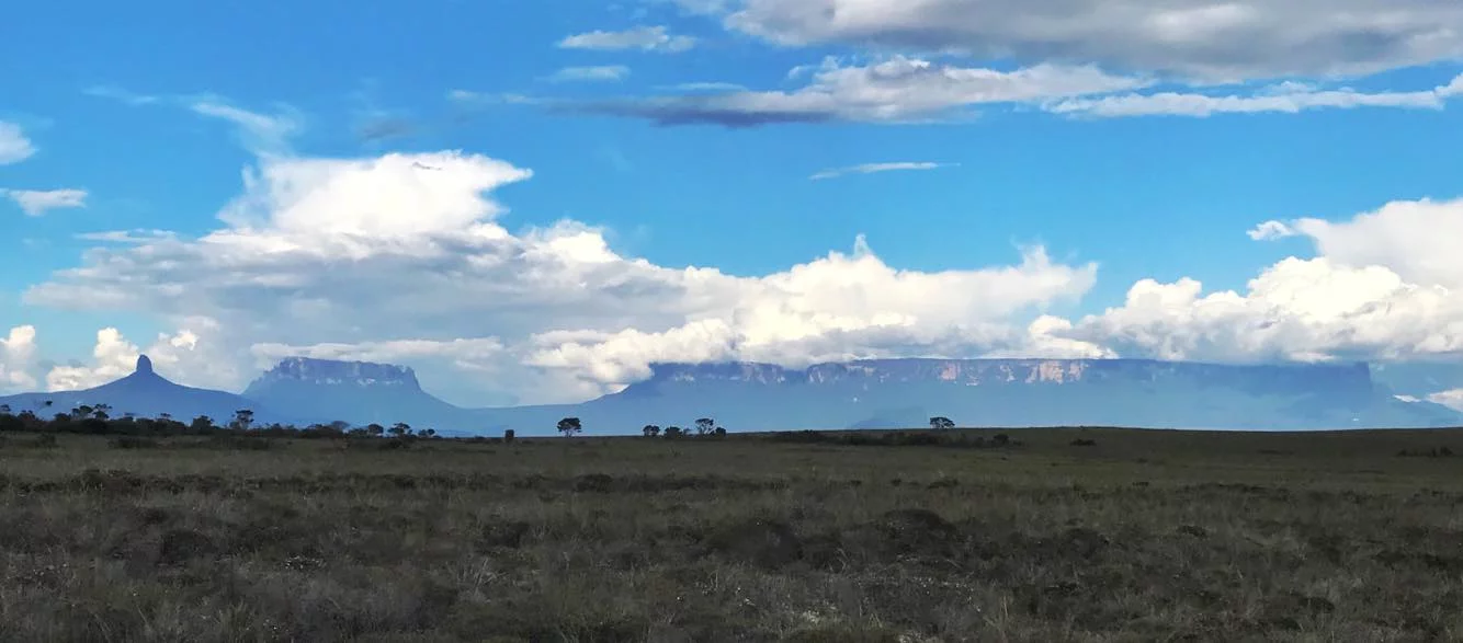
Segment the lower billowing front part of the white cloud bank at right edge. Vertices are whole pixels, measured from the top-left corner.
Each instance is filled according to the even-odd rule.
[[[1343,256],[1289,257],[1245,292],[1140,281],[1124,305],[1058,335],[1163,359],[1454,359],[1463,357],[1463,291]]]

